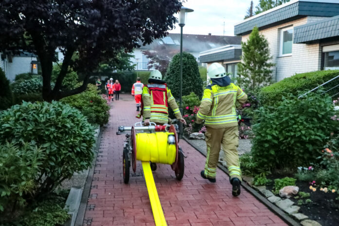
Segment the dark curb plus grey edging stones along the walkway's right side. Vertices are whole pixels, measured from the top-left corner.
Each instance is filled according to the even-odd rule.
[[[184,136],[183,139],[185,141],[187,141],[188,144],[190,144],[195,150],[199,151],[202,155],[206,156],[206,153],[199,150],[199,148],[196,147],[195,144],[193,142],[191,142],[191,140],[189,140],[187,137]],[[228,174],[228,170],[226,169],[226,166],[224,164],[219,163],[218,168],[223,170],[226,174]],[[248,177],[248,179],[251,180],[249,177]],[[288,225],[290,225],[290,226],[300,226],[300,225],[302,225],[302,226],[320,226],[319,223],[316,222],[316,221],[314,221],[314,222],[317,223],[318,225],[308,224],[309,222],[311,222],[311,220],[306,219],[301,215],[297,215],[297,216],[301,219],[306,219],[306,220],[301,221],[301,223],[299,223],[300,220],[296,221],[295,219],[298,219],[298,218],[296,216],[294,216],[293,214],[296,214],[298,212],[298,211],[296,211],[298,206],[293,206],[294,202],[292,202],[290,199],[282,200],[280,197],[274,196],[274,194],[271,191],[267,190],[266,187],[255,187],[254,188],[254,187],[250,186],[249,184],[247,184],[247,182],[242,183],[241,185],[242,185],[243,188],[245,188],[245,190],[250,192],[256,199],[258,199],[266,207],[268,207],[271,211],[273,211],[275,214],[277,214]],[[262,191],[260,191],[260,189]],[[264,194],[263,194],[263,192],[264,192]],[[269,201],[268,198],[271,199],[274,202]],[[285,200],[288,200],[288,201],[285,201]],[[293,216],[294,218],[290,217],[290,215],[287,211],[283,211],[281,208],[279,208],[276,205],[276,203],[279,203],[279,205],[281,207],[286,207],[286,210],[288,212],[290,212],[290,214],[292,214],[291,216]],[[300,207],[298,207],[298,210],[299,210],[299,208]]]

